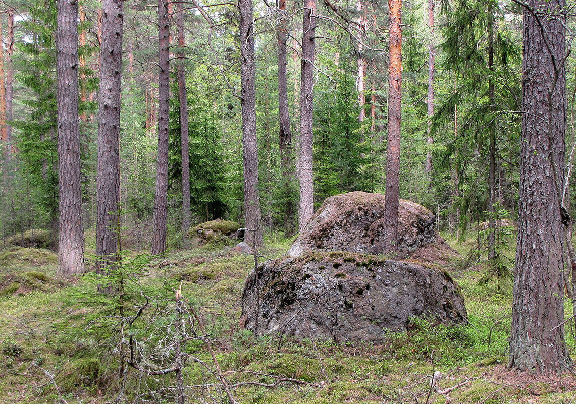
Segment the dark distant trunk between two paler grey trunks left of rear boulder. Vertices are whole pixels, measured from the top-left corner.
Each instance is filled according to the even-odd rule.
[[[280,166],[282,170],[283,199],[284,199],[284,230],[286,234],[294,233],[294,207],[292,205],[291,192],[291,146],[292,132],[290,129],[290,113],[288,109],[288,86],[287,86],[287,62],[286,62],[286,41],[288,40],[286,30],[286,0],[280,0],[279,9],[281,20],[278,27],[278,118],[279,118],[279,144],[280,144]]]

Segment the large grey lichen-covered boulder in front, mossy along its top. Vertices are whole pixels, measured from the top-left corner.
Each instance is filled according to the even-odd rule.
[[[406,331],[412,317],[467,318],[444,270],[348,252],[265,262],[248,276],[242,307],[241,322],[257,335],[335,342],[382,342],[386,330]]]

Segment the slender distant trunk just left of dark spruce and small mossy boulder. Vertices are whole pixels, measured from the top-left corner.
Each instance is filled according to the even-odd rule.
[[[184,3],[179,3],[178,15],[179,54],[184,55]],[[180,100],[180,139],[182,143],[182,234],[184,245],[188,246],[190,230],[190,150],[188,148],[188,93],[184,59],[178,63],[178,97]]]

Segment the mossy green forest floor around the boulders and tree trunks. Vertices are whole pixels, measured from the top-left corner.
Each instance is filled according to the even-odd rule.
[[[279,257],[290,241],[269,237],[260,253]],[[450,245],[465,256],[475,241]],[[253,265],[253,256],[222,246],[176,250],[152,261],[139,276],[144,284],[168,290],[166,304],[172,307],[182,282],[182,295],[209,329],[206,337],[191,340],[186,348],[197,359],[184,371],[189,402],[227,402],[214,376],[217,362],[231,386],[240,383],[231,387],[240,403],[576,403],[572,373],[543,378],[506,370],[511,283],[480,286],[481,265],[459,270],[454,263],[450,269],[463,289],[467,325],[433,327],[415,321],[407,333],[391,333],[382,345],[288,338],[279,343],[241,330],[242,286]],[[97,283],[86,276],[56,280],[55,267],[56,256],[48,250],[0,251],[0,402],[115,402],[119,354],[112,345],[94,341],[97,331],[88,331],[96,306],[85,296],[96,296]],[[571,302],[566,302],[566,317],[570,315]],[[159,324],[157,319],[154,327],[169,328],[172,321]],[[118,330],[110,330],[108,337],[114,337]],[[570,327],[567,340],[576,353]],[[441,377],[433,389],[430,380],[436,371]],[[131,368],[124,369],[124,375],[128,402],[138,394],[142,403],[175,402],[147,393],[173,391],[162,390],[173,386],[173,376],[143,378]],[[254,384],[279,381],[274,388]]]

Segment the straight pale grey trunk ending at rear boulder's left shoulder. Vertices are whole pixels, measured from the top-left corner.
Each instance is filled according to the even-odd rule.
[[[314,215],[312,177],[312,125],[316,0],[306,0],[302,22],[302,74],[300,93],[300,231]]]

